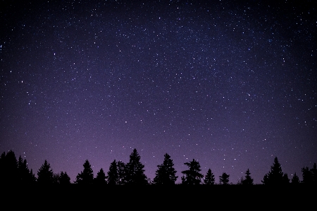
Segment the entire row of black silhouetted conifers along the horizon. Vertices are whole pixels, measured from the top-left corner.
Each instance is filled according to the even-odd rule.
[[[144,174],[144,165],[140,162],[140,156],[137,150],[134,149],[130,155],[130,161],[124,163],[122,161],[113,160],[108,169],[108,172],[104,172],[101,168],[94,177],[94,172],[88,160],[85,161],[82,172],[77,174],[74,184],[101,184],[101,185],[174,185],[178,179],[176,176],[176,170],[173,167],[173,160],[170,159],[170,155],[166,153],[161,165],[158,165],[156,170],[156,176],[153,180],[147,178]],[[201,167],[197,160],[184,163],[187,166],[187,170],[182,171],[181,184],[187,185],[213,185],[216,184],[215,176],[211,169],[209,169],[205,175],[201,174]],[[317,168],[314,163],[313,168],[302,168],[302,181],[295,173],[292,179],[289,179],[287,174],[282,172],[278,158],[274,159],[271,170],[264,175],[261,181],[264,185],[286,185],[286,184],[317,184]],[[219,184],[228,185],[230,175],[223,172],[219,177]],[[13,151],[8,153],[2,153],[0,158],[0,182],[2,184],[71,184],[70,177],[67,172],[54,173],[46,160],[44,164],[37,171],[37,177],[27,167],[27,161],[23,160],[21,156],[18,160],[15,157]],[[251,178],[249,169],[245,172],[245,176],[237,182],[240,185],[253,185],[254,181]]]

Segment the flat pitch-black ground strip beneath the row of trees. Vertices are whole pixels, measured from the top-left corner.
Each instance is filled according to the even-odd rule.
[[[42,203],[51,208],[88,208],[103,206],[102,210],[221,210],[244,207],[245,210],[292,208],[304,209],[316,201],[316,186],[2,186],[4,202],[18,199],[14,205],[33,207]],[[92,206],[92,207],[91,207]],[[205,207],[206,208],[202,208]],[[314,205],[315,206],[315,205]],[[169,208],[170,209],[169,209]],[[40,207],[38,207],[40,208]],[[42,209],[41,208],[41,209]],[[108,209],[109,208],[109,209]]]

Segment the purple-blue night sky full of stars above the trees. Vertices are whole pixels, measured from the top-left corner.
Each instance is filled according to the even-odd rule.
[[[0,151],[71,181],[137,148],[236,184],[317,162],[313,1],[1,1]]]

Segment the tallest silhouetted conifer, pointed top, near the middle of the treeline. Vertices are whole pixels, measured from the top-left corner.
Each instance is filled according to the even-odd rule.
[[[125,184],[145,185],[147,176],[144,174],[144,165],[139,161],[141,157],[134,149],[130,155],[130,161],[125,165]]]

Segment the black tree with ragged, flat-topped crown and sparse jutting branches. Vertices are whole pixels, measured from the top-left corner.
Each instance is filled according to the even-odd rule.
[[[184,174],[182,176],[182,184],[200,184],[201,178],[204,175],[199,173],[201,171],[199,162],[192,159],[192,161],[185,162],[184,164],[189,167],[189,170],[182,171],[182,174]]]

